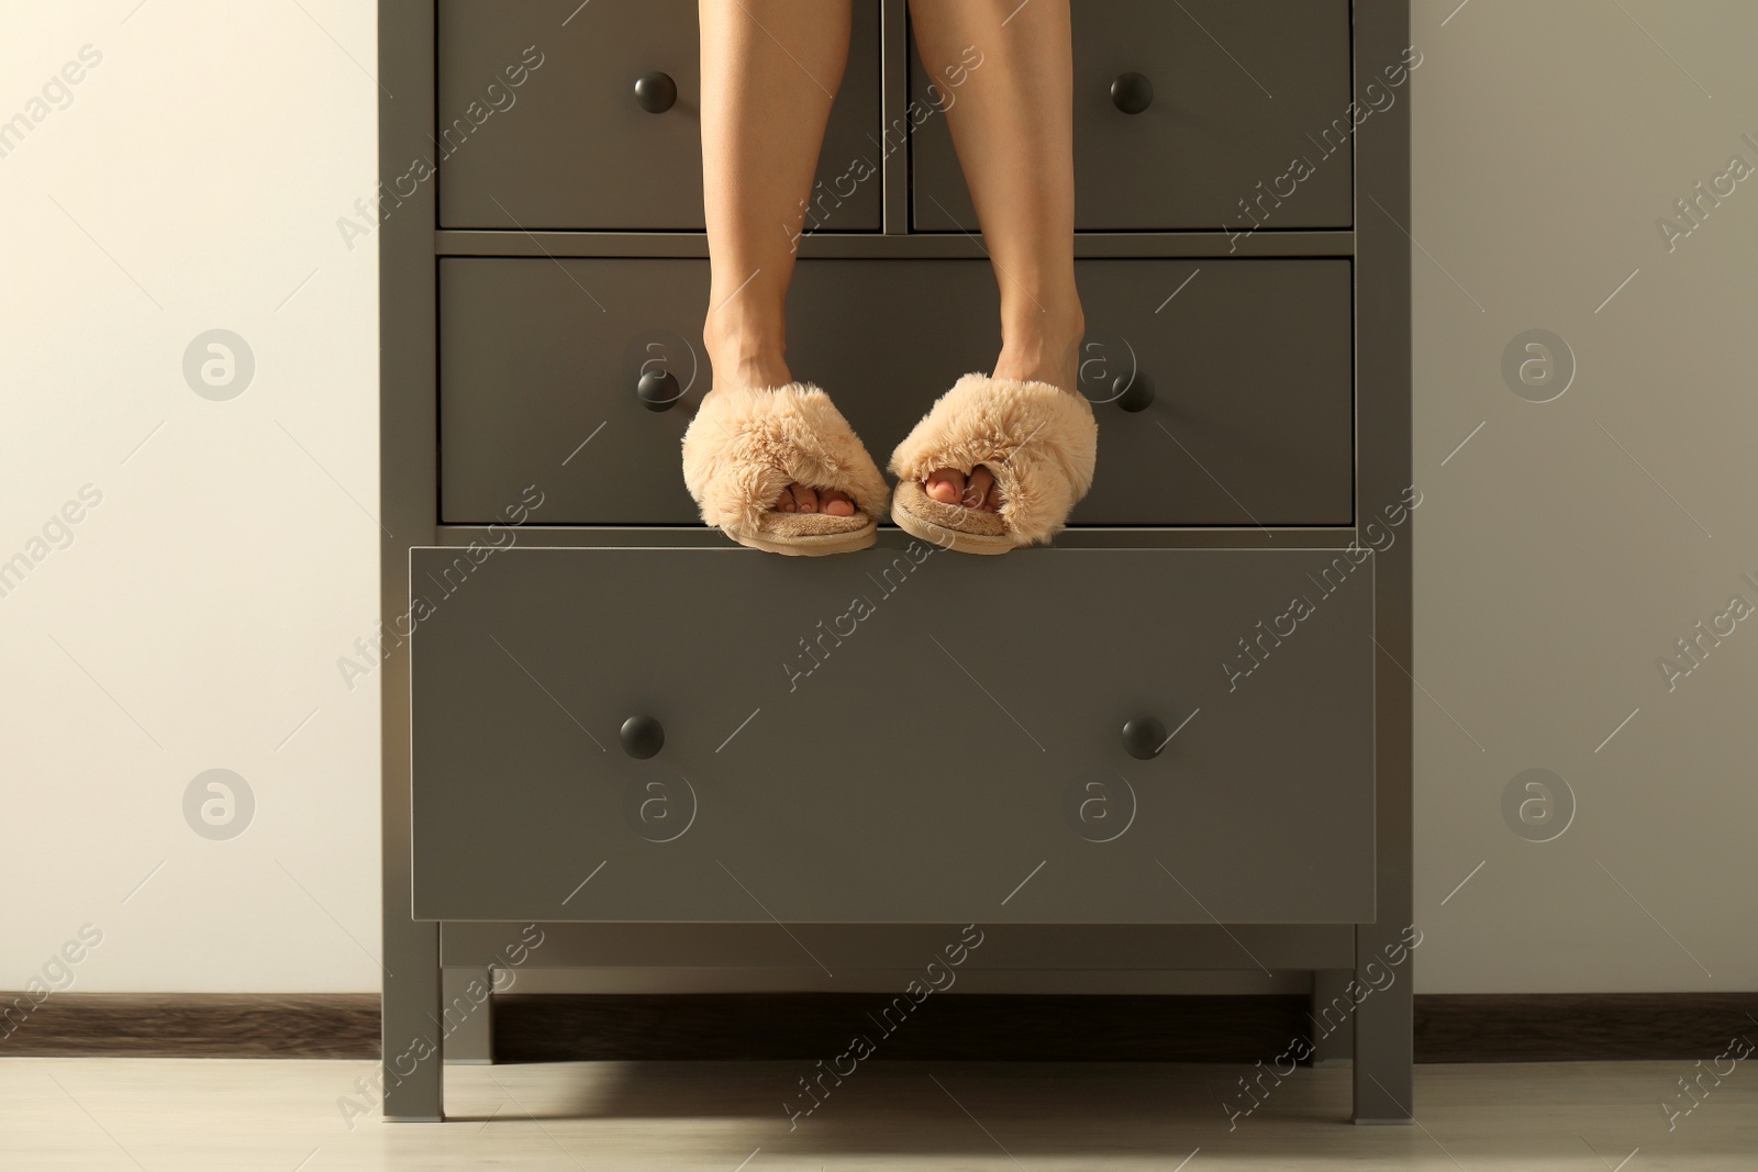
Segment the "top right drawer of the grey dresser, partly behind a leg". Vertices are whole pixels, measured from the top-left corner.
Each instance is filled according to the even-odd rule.
[[[1350,225],[1348,0],[1074,0],[1072,25],[1076,228]],[[1111,98],[1125,74],[1151,84],[1136,114]],[[930,81],[912,54],[923,107]],[[1310,174],[1290,174],[1296,158]],[[976,232],[939,112],[912,163],[914,227]]]

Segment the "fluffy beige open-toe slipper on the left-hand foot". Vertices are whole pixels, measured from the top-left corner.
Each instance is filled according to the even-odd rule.
[[[789,483],[839,488],[854,515],[775,511]],[[812,383],[716,392],[684,432],[684,485],[703,522],[770,553],[865,550],[890,496],[854,429]]]

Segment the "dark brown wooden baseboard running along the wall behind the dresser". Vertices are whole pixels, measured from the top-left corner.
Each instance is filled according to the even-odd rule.
[[[0,1058],[378,1058],[367,993],[0,993]],[[1304,1035],[1304,996],[930,996],[909,1014],[860,993],[506,995],[498,1061],[823,1058],[861,1033],[875,1058],[1238,1061]],[[9,1009],[11,1007],[11,1009]],[[1415,1058],[1711,1058],[1758,1040],[1758,993],[1420,995]]]

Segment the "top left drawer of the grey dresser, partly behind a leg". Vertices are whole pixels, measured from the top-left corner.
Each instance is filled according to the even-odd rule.
[[[694,0],[440,0],[436,21],[441,227],[703,228]],[[508,86],[527,49],[541,63]],[[635,97],[654,72],[677,90],[663,112]],[[817,170],[842,199],[816,204],[821,228],[879,230],[879,177],[854,177],[881,163],[881,121],[879,4],[861,0]]]

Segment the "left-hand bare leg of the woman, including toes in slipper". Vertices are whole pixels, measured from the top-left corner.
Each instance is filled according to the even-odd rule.
[[[849,0],[700,0],[698,11],[712,395],[793,381],[784,306],[849,56]],[[788,485],[775,508],[854,513],[847,496],[814,485]]]

